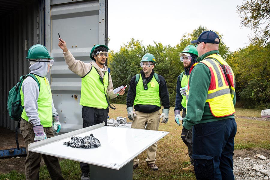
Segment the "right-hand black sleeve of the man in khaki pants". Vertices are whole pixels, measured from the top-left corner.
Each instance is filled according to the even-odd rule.
[[[159,97],[161,98],[162,106],[164,109],[170,109],[170,98],[166,81],[161,75],[158,75],[158,79],[160,80]]]

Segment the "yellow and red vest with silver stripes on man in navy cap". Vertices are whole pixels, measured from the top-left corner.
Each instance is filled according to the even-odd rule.
[[[217,59],[223,65],[231,84],[232,94],[230,93],[229,85],[223,69],[220,67],[217,61],[211,58]],[[208,66],[211,72],[211,82],[205,102],[209,103],[212,115],[215,117],[223,117],[235,113],[234,105],[232,102],[232,99],[235,95],[235,77],[231,67],[226,63],[226,61],[223,60],[223,58],[220,57],[220,55],[217,54],[207,56],[204,60],[198,63],[203,63]],[[193,66],[190,68],[190,72],[198,63],[193,64]]]

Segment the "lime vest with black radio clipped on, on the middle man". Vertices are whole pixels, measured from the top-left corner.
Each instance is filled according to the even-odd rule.
[[[148,89],[144,90],[142,75],[140,74],[139,81],[136,85],[136,96],[134,100],[134,106],[136,104],[142,104],[142,105],[156,105],[160,107],[161,105],[159,97],[159,84],[154,76],[151,79],[151,81],[148,82],[147,86]]]

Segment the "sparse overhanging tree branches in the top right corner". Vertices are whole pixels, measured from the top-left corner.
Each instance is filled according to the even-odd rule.
[[[255,42],[263,40],[263,44],[270,43],[270,1],[249,0],[237,6],[241,24],[254,30]]]

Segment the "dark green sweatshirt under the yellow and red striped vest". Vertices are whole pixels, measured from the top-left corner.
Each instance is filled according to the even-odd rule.
[[[197,61],[202,61],[208,55],[216,53],[219,53],[219,51],[207,52],[200,56]],[[234,118],[234,114],[220,118],[216,118],[212,115],[209,104],[205,103],[210,82],[211,72],[209,68],[203,63],[198,63],[193,68],[189,76],[189,96],[187,103],[187,115],[184,118],[183,123],[184,128],[189,130],[193,125],[196,124]],[[235,106],[235,96],[232,101]]]

